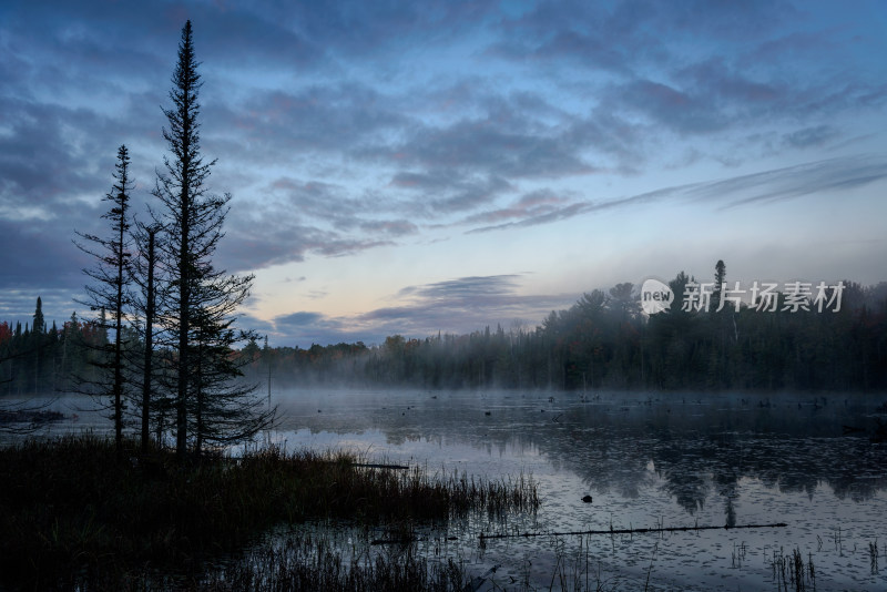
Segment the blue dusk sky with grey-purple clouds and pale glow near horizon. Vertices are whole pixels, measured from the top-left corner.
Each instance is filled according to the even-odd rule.
[[[887,279],[884,2],[7,0],[0,320],[85,314],[121,144],[156,206],[187,19],[214,262],[272,345],[532,328],[718,259]]]

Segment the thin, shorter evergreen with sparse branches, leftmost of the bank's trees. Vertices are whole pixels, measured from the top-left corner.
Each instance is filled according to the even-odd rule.
[[[99,366],[113,375],[110,396],[113,401],[114,441],[120,449],[123,441],[123,323],[128,306],[126,285],[131,277],[129,205],[130,192],[133,190],[130,180],[130,153],[125,145],[118,149],[113,176],[115,183],[104,197],[111,203],[111,208],[102,215],[110,222],[111,236],[103,238],[78,233],[92,245],[78,244],[78,246],[96,262],[94,267],[84,269],[93,284],[86,286],[86,299],[81,300],[81,304],[89,306],[91,310],[101,310],[100,336],[106,336],[110,328],[114,330],[112,343],[109,344],[106,339],[101,339],[99,343],[104,354],[104,359],[99,361]],[[108,310],[112,314],[110,321],[106,316]]]

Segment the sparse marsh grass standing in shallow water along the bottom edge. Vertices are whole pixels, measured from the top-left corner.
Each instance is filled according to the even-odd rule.
[[[286,533],[274,533],[249,549],[237,561],[231,561],[190,590],[273,590],[288,592],[312,591],[451,591],[507,590],[509,592],[539,592],[560,590],[571,592],[612,592],[640,590],[640,582],[623,588],[621,576],[603,578],[601,564],[592,564],[592,542],[580,538],[580,549],[569,550],[563,539],[552,538],[555,555],[550,581],[531,582],[532,562],[524,558],[521,578],[497,573],[502,567],[493,565],[482,574],[478,564],[471,564],[459,553],[437,557],[422,552],[416,538],[402,544],[373,547],[369,535],[354,543],[354,529],[309,525]],[[358,537],[360,538],[360,537]],[[346,539],[346,540],[344,540]],[[354,545],[343,554],[344,547]],[[597,560],[595,560],[597,561]],[[652,559],[651,559],[652,561]],[[469,567],[470,565],[470,567]],[[473,574],[472,574],[473,572]],[[632,584],[636,584],[631,588]],[[649,571],[648,571],[648,585]]]

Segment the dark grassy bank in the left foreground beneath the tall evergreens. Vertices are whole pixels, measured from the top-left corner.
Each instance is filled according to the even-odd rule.
[[[323,582],[318,589],[354,590],[363,586],[355,578],[364,578],[365,589],[418,590],[426,588],[419,580],[449,581],[458,570],[419,558],[383,569],[381,557],[355,571],[310,537],[290,538],[288,553],[272,542],[254,545],[254,560],[244,564],[253,568],[235,562],[218,572],[210,565],[262,540],[275,524],[343,519],[401,524],[396,531],[409,532],[402,524],[446,524],[475,511],[534,511],[539,504],[532,481],[430,478],[417,468],[361,467],[347,453],[269,447],[182,463],[173,451],[139,450],[124,441],[118,453],[113,441],[92,436],[0,450],[0,589],[268,589],[255,572],[255,557],[264,557],[277,565],[277,563],[287,562],[287,586],[303,578],[303,589],[314,581]],[[377,576],[402,576],[404,585],[388,588]]]

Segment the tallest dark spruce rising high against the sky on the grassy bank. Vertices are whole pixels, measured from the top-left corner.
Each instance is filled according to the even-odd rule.
[[[154,191],[163,204],[163,220],[157,222],[170,235],[163,246],[165,274],[172,283],[165,318],[176,336],[171,346],[177,364],[175,448],[180,458],[188,447],[188,418],[195,409],[200,414],[198,426],[191,430],[191,437],[196,437],[200,446],[207,432],[207,418],[203,415],[208,405],[205,397],[213,389],[227,391],[225,385],[239,375],[224,358],[239,338],[231,324],[236,306],[246,298],[253,280],[253,276],[226,276],[224,271],[212,265],[212,256],[223,236],[222,225],[231,195],[212,194],[206,186],[215,161],[205,162],[201,155],[197,116],[202,82],[197,65],[191,21],[187,21],[182,29],[179,61],[172,78],[173,106],[163,111],[169,123],[163,137],[172,157],[164,157]],[[213,388],[207,390],[207,384]],[[238,391],[237,396],[242,400],[248,398],[249,392]],[[239,411],[245,414],[239,421],[252,425],[248,408],[239,408]],[[191,420],[194,422],[195,418]]]

